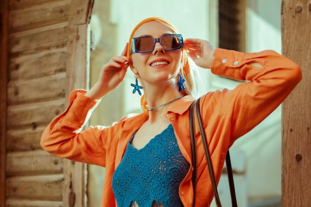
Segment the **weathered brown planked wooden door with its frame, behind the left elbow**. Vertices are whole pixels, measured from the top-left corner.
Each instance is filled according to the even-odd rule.
[[[86,88],[89,57],[79,55],[87,54],[92,1],[4,0],[0,5],[7,11],[7,65],[1,66],[1,74],[7,72],[7,116],[1,119],[6,122],[1,128],[5,187],[0,188],[6,201],[0,206],[85,206],[85,166],[50,155],[39,142],[47,124],[67,107],[72,88]],[[82,53],[73,51],[78,43],[84,43]],[[82,63],[80,75],[72,71],[76,59]]]

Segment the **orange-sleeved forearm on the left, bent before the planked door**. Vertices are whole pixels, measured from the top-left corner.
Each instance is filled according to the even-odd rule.
[[[70,94],[70,104],[66,111],[54,118],[45,128],[40,145],[45,151],[56,156],[67,157],[73,154],[73,146],[83,144],[83,137],[78,133],[89,119],[91,112],[100,101],[85,97],[84,90],[75,90]],[[96,132],[96,133],[95,133]],[[100,137],[97,128],[89,129],[89,136]],[[80,137],[79,137],[80,136]],[[80,139],[79,142],[75,142]],[[81,148],[81,146],[80,146]]]

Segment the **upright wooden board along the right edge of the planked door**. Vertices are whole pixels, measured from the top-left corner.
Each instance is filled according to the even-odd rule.
[[[66,92],[74,89],[88,89],[90,68],[90,29],[89,22],[94,0],[72,0],[68,18],[69,32],[67,43]],[[86,206],[87,165],[64,160],[63,203],[68,206]]]

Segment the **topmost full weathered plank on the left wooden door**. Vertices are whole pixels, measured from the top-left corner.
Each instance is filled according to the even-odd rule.
[[[9,12],[9,30],[26,30],[68,20],[70,0],[60,0],[24,7]],[[25,18],[27,17],[27,18]]]

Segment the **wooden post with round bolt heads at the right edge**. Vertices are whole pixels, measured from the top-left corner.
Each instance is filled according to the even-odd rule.
[[[282,206],[311,203],[311,2],[282,0],[282,53],[303,79],[282,105]]]

